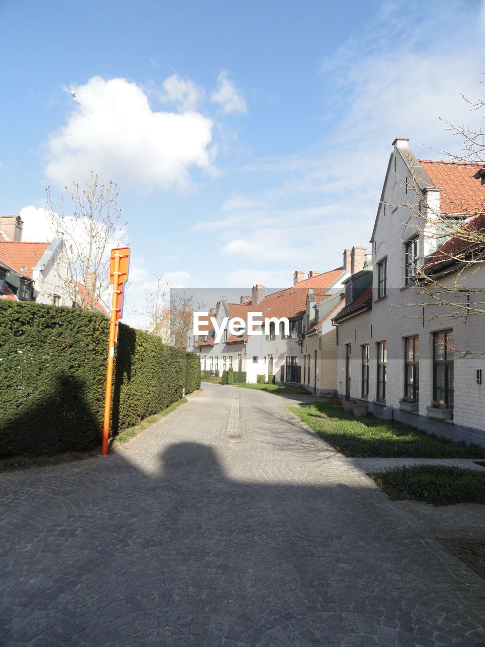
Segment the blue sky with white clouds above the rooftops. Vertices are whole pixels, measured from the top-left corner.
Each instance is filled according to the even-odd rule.
[[[368,244],[394,137],[439,159],[457,142],[438,117],[479,122],[460,95],[485,94],[484,16],[478,0],[0,0],[0,212],[32,239],[45,186],[117,182],[125,313],[154,272],[248,293],[338,267]]]

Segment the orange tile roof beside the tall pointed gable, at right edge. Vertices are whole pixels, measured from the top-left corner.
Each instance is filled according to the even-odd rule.
[[[475,214],[484,210],[485,192],[473,175],[483,162],[419,160],[436,187],[442,188],[440,209],[446,214]]]

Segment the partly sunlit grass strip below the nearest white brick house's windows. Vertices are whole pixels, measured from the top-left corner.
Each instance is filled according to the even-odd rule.
[[[422,432],[410,424],[374,415],[355,418],[341,406],[314,404],[290,408],[327,443],[349,457],[484,458],[485,448]]]

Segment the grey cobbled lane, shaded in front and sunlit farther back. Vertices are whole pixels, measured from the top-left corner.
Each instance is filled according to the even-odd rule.
[[[116,454],[0,475],[0,644],[483,647],[483,580],[287,405],[206,384]]]

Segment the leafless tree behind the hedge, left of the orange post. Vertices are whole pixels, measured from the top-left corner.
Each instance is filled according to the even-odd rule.
[[[67,257],[59,257],[64,265],[59,275],[65,276],[65,292],[79,307],[96,309],[105,305],[109,296],[109,251],[124,237],[120,223],[121,210],[116,200],[116,184],[100,184],[98,175],[91,172],[82,188],[72,182],[72,190],[65,187],[56,208],[50,187],[47,187],[47,204],[52,226],[67,248]]]

